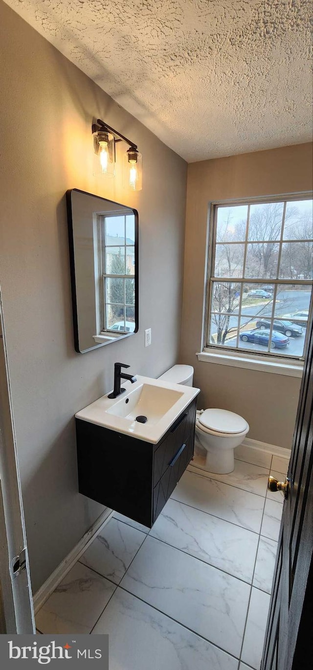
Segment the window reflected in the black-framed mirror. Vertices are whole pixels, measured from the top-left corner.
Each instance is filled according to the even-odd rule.
[[[135,216],[99,214],[101,332],[135,330]]]

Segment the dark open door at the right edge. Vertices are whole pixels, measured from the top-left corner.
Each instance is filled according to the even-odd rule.
[[[261,670],[312,667],[312,317]]]

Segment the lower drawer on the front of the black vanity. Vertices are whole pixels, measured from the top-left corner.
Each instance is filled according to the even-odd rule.
[[[166,472],[160,478],[158,484],[153,488],[153,523],[162,511],[164,505],[174,488],[186,470],[194,453],[193,435],[184,442],[174,454]]]

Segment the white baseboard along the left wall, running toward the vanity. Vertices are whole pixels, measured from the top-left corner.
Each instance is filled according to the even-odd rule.
[[[92,540],[95,538],[95,535],[99,533],[99,530],[104,526],[111,516],[113,515],[113,510],[105,509],[105,511],[98,517],[95,523],[90,526],[88,531],[82,536],[80,541],[76,544],[76,547],[68,553],[64,560],[56,567],[54,572],[48,577],[48,580],[42,584],[40,589],[36,592],[33,598],[35,614],[43,606],[44,602],[48,600],[49,596],[54,592],[54,589],[62,582],[64,577],[70,572],[70,569],[78,561],[80,556],[86,551],[87,547],[92,543]]]

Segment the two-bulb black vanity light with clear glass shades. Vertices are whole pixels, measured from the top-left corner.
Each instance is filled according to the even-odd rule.
[[[131,191],[141,191],[142,188],[142,156],[134,144],[121,135],[107,123],[97,119],[92,123],[92,137],[95,153],[99,156],[101,174],[107,177],[115,176],[115,143],[126,142],[129,145],[124,155],[123,185]]]

